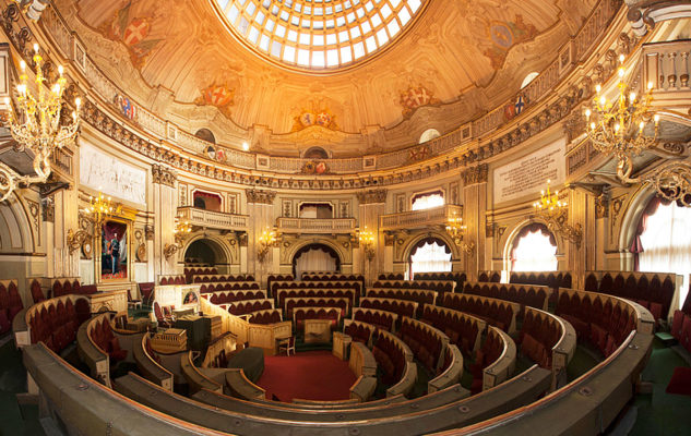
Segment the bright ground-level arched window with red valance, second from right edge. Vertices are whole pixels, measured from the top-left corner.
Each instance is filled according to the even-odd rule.
[[[511,249],[512,271],[556,271],[557,241],[547,227],[534,222],[521,229]]]

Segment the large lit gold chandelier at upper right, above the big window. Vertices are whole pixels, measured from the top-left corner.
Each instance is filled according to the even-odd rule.
[[[621,55],[620,64],[623,64],[623,60]],[[619,66],[617,74],[619,95],[615,99],[608,100],[601,94],[603,87],[599,84],[595,88],[597,94],[593,108],[585,110],[586,131],[595,149],[617,158],[619,179],[626,183],[635,183],[639,179],[631,179],[633,157],[657,144],[659,116],[650,111],[653,100],[652,82],[647,84],[647,92],[639,97],[623,81],[623,65]],[[653,136],[644,133],[651,121],[655,123]]]

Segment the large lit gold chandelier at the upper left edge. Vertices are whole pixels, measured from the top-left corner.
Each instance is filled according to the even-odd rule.
[[[41,183],[50,175],[50,155],[56,148],[73,144],[79,132],[81,99],[74,99],[76,109],[72,112],[72,121],[62,123],[62,93],[67,80],[62,75],[62,66],[58,66],[60,74],[56,83],[47,88],[47,78],[43,71],[44,59],[38,52],[38,45],[34,45],[34,63],[36,64],[37,95],[33,95],[28,87],[26,62],[21,61],[20,84],[16,85],[17,113],[14,114],[12,101],[9,97],[4,104],[8,108],[5,126],[14,141],[15,149],[22,152],[28,148],[34,154],[34,172],[36,175],[21,175],[7,165],[0,162],[0,201],[7,199],[17,184]]]

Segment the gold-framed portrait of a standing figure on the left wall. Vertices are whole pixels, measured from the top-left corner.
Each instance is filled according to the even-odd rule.
[[[129,280],[129,225],[109,219],[100,228],[100,280]]]

